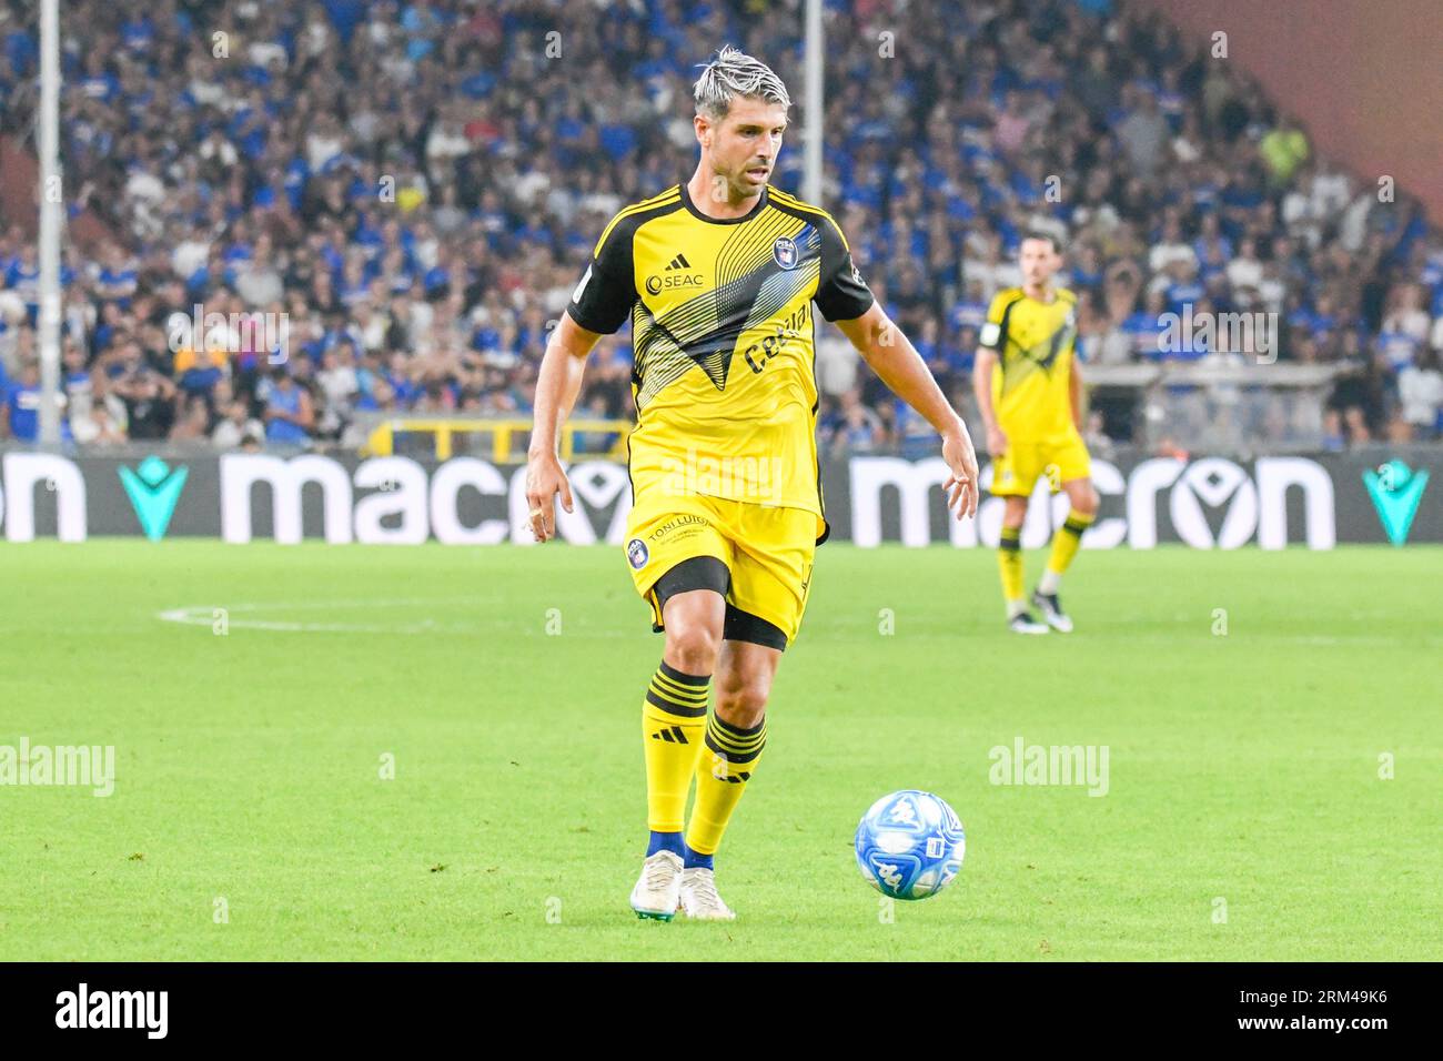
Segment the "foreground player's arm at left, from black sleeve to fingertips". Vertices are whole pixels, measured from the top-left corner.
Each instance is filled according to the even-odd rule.
[[[560,323],[547,339],[537,375],[535,414],[527,452],[527,501],[537,541],[556,536],[556,497],[571,511],[571,485],[557,453],[561,424],[582,393],[586,358],[603,335],[610,335],[636,303],[629,231],[618,232],[620,215],[602,232],[582,281],[571,293]],[[625,228],[625,227],[622,227]]]

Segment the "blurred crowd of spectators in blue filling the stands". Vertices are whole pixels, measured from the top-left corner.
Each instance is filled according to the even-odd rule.
[[[29,9],[0,0],[0,136],[33,152]],[[736,43],[799,100],[799,26],[795,0],[63,4],[68,436],[351,445],[365,411],[525,417],[599,231],[694,166],[694,64]],[[827,42],[824,205],[960,407],[1040,228],[1087,362],[1222,357],[1162,352],[1185,306],[1276,313],[1281,361],[1346,365],[1329,445],[1437,436],[1443,240],[1235,64],[1110,0],[831,0]],[[794,136],[782,188],[801,162]],[[38,277],[10,217],[0,437],[36,435]],[[211,341],[177,323],[198,306],[228,319]],[[824,445],[929,436],[835,333],[818,378]],[[577,414],[629,417],[629,380],[623,331]]]

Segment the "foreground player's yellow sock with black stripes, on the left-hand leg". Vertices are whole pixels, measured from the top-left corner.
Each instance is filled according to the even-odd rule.
[[[648,856],[658,850],[681,855],[687,791],[707,729],[710,684],[710,676],[685,674],[662,660],[646,687],[646,699],[641,704],[641,739],[646,754]]]

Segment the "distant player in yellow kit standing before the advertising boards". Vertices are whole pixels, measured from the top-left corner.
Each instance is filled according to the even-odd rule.
[[[977,371],[977,407],[987,426],[993,459],[991,492],[1006,498],[997,563],[1007,625],[1017,634],[1062,634],[1072,619],[1062,611],[1058,588],[1076,556],[1082,533],[1097,517],[1092,465],[1082,443],[1082,378],[1076,364],[1076,296],[1053,287],[1062,264],[1058,241],[1029,234],[1019,266],[1023,286],[997,292],[983,326]],[[1039,478],[1053,494],[1068,495],[1071,511],[1052,538],[1048,569],[1032,593],[1046,622],[1027,611],[1023,596],[1022,524]]]

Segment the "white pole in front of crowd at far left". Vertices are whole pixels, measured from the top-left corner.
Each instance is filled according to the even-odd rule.
[[[40,0],[40,445],[61,445],[61,13]]]

